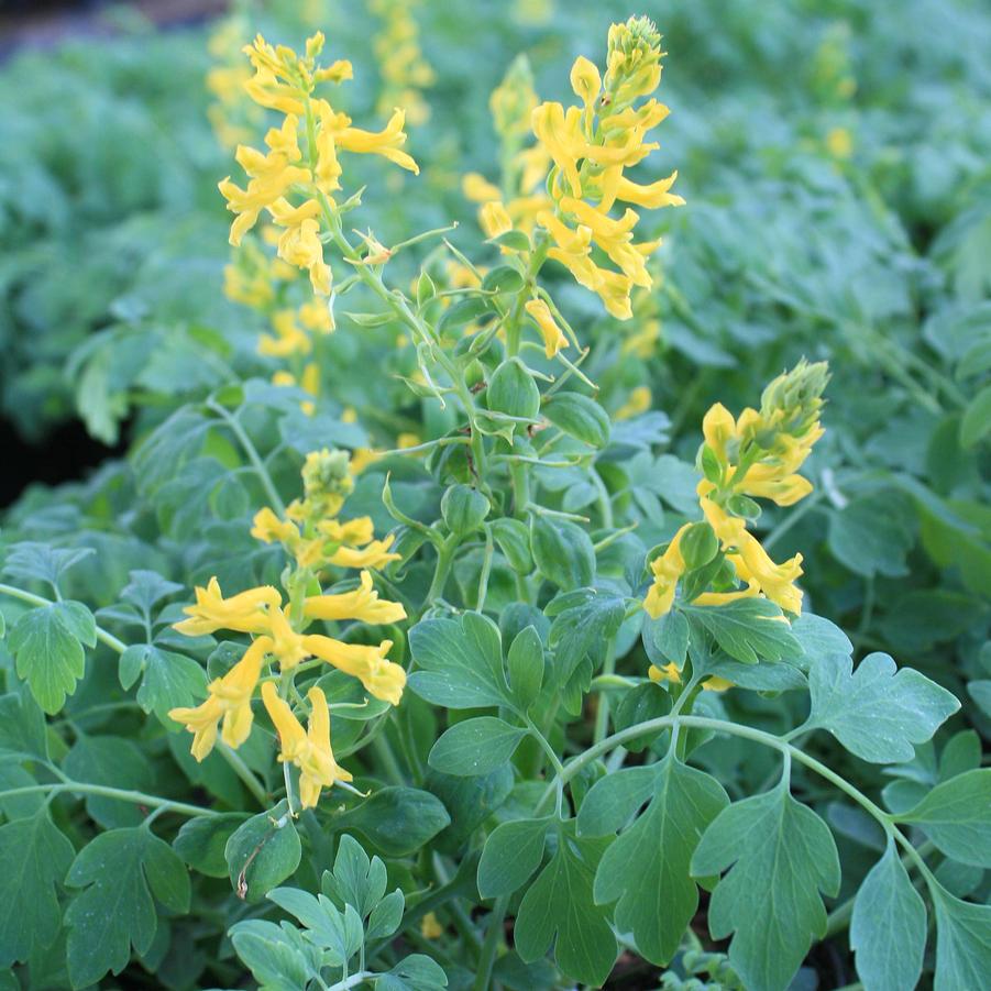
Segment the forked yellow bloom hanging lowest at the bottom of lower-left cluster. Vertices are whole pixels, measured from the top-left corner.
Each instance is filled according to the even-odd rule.
[[[324,788],[338,781],[351,781],[352,775],[334,760],[330,748],[330,711],[327,697],[316,685],[307,692],[310,703],[308,729],[302,726],[275,685],[262,685],[262,702],[275,726],[279,741],[279,761],[299,768],[299,801],[304,808],[312,808]]]

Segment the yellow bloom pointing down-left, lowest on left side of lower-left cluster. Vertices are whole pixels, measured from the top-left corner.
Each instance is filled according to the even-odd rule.
[[[251,734],[251,696],[262,674],[262,661],[272,649],[268,637],[258,637],[223,678],[212,681],[207,701],[196,708],[174,708],[168,715],[192,736],[192,756],[201,761],[217,742],[217,724],[223,719],[221,739],[236,749]]]

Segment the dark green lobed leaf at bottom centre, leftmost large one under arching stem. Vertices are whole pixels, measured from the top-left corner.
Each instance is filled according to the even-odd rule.
[[[616,962],[616,937],[592,896],[605,847],[601,839],[577,839],[573,823],[559,827],[558,849],[516,916],[514,939],[525,962],[538,960],[553,943],[554,959],[568,977],[594,987],[605,983]]]

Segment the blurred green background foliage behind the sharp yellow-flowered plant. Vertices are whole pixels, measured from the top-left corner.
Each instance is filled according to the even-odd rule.
[[[388,9],[245,4],[241,41],[261,30],[298,45],[322,29],[331,57],[355,66],[344,109],[379,121],[375,38]],[[433,76],[429,117],[408,126],[421,174],[370,163],[359,222],[389,244],[456,220],[452,243],[489,264],[461,178],[497,173],[491,91],[525,52],[541,98],[564,97],[564,68],[601,49],[610,21],[639,12],[615,0],[414,4]],[[987,738],[991,10],[979,0],[654,0],[646,12],[670,53],[657,167],[679,169],[687,205],[656,221],[662,277],[632,321],[603,317],[569,279],[552,287],[592,349],[583,370],[599,400],[626,418],[602,469],[638,524],[627,539],[642,561],[694,511],[692,462],[712,403],[736,412],[801,356],[828,360],[827,433],[810,461],[816,494],[767,513],[763,544],[777,559],[801,551],[807,608],[847,629],[860,653],[889,650],[969,697],[967,718]],[[236,452],[184,404],[230,370],[267,379],[275,365],[256,352],[258,315],[222,291],[229,217],[216,185],[232,168],[208,119],[216,27],[159,31],[126,8],[101,16],[110,36],[25,48],[0,66],[0,416],[15,454],[0,542],[95,548],[73,581],[108,605],[133,568],[191,584],[217,561],[242,582],[274,566],[247,533],[261,496]],[[411,278],[426,251],[400,255],[389,276]],[[397,377],[412,374],[415,356],[393,346],[395,326],[359,327],[341,312],[338,322],[320,342],[322,418],[308,426],[298,394],[245,387],[243,419],[262,453],[288,448],[297,459],[273,463],[286,492],[307,444],[392,448],[452,426]],[[346,407],[361,427],[342,421]],[[354,511],[390,526],[386,469],[404,509],[436,518],[442,488],[414,458],[363,474]],[[596,497],[569,489],[566,471],[546,484],[572,511]],[[460,566],[467,581],[471,562]],[[779,702],[739,695],[727,704],[778,718]],[[749,793],[767,768],[739,759],[726,748],[720,780],[736,773]],[[933,748],[906,767],[935,775]],[[862,766],[857,775],[883,783]],[[839,814],[833,824],[844,832]]]

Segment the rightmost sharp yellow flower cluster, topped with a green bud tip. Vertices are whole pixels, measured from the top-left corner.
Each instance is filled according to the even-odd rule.
[[[764,595],[788,613],[802,612],[802,592],[795,586],[802,555],[775,564],[747,525],[760,513],[755,498],[792,506],[812,491],[812,483],[797,472],[823,436],[819,410],[827,381],[825,363],[802,361],[764,389],[759,410],[745,409],[734,420],[717,403],[706,414],[700,452],[704,477],[697,489],[705,522],[685,524],[651,562],[653,584],[643,607],[652,617],[671,609],[682,576],[691,566],[707,564],[717,550],[725,564],[713,581],[716,590],[696,596],[694,605]],[[706,536],[712,553],[700,560],[697,549]],[[737,587],[740,582],[746,587]]]

